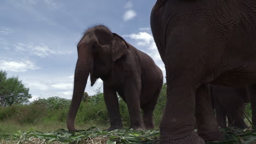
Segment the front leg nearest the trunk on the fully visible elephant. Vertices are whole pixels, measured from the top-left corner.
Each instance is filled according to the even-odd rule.
[[[107,106],[110,128],[108,130],[121,129],[123,124],[119,112],[117,92],[113,88],[103,84],[104,101]]]

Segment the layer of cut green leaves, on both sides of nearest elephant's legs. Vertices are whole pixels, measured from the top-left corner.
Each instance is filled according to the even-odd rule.
[[[221,129],[225,136],[222,142],[207,142],[207,144],[222,143],[256,143],[256,131],[241,130],[237,128]],[[69,132],[65,129],[56,130],[54,133],[41,133],[39,131],[27,131],[14,135],[0,135],[0,143],[158,143],[159,130],[135,131],[132,129],[102,131],[96,127],[78,132]]]

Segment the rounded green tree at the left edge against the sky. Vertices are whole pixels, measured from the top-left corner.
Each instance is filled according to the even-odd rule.
[[[26,88],[18,76],[7,78],[5,71],[0,71],[0,105],[11,106],[13,104],[27,103],[32,98],[30,89]]]

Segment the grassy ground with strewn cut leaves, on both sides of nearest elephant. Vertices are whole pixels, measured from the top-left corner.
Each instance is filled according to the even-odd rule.
[[[95,127],[97,125],[97,127]],[[15,121],[0,122],[0,143],[158,143],[159,130],[134,131],[131,129],[104,131],[109,127],[94,123],[77,124],[81,130],[71,133],[64,122],[43,122],[39,124],[20,124]],[[256,143],[256,131],[250,129],[220,129],[225,136],[222,142],[207,144],[249,144]]]

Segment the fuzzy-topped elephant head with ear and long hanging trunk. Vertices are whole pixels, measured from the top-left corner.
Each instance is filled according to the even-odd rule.
[[[103,81],[112,74],[113,64],[128,53],[129,45],[105,26],[95,26],[83,35],[77,45],[78,59],[74,73],[74,89],[67,117],[67,128],[76,131],[74,119],[81,103],[90,74],[91,86],[100,77]]]

